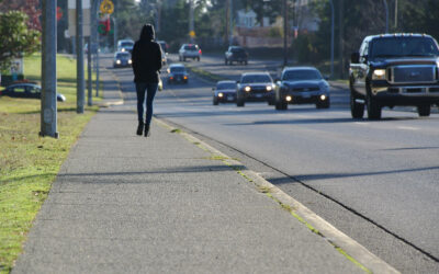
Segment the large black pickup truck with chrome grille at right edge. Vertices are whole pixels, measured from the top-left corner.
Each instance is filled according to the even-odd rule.
[[[365,37],[349,68],[352,117],[363,117],[364,105],[369,119],[396,105],[417,106],[419,116],[429,116],[431,105],[439,106],[438,68],[438,43],[429,35]]]

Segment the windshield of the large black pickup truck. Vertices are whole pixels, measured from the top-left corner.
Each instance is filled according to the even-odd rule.
[[[371,58],[404,56],[439,56],[439,49],[429,37],[389,37],[372,42]]]

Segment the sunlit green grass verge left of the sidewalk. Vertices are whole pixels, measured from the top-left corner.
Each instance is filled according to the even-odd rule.
[[[59,139],[38,137],[40,100],[0,98],[0,273],[12,270],[61,163],[98,110],[76,114],[75,65],[57,58],[58,92],[67,98],[58,102]],[[40,81],[41,56],[25,58],[24,69],[27,79]]]

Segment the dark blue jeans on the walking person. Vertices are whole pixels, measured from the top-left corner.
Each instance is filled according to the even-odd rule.
[[[153,101],[154,96],[156,95],[158,88],[158,83],[144,83],[144,82],[136,82],[136,92],[137,92],[137,115],[138,122],[144,121],[144,112],[145,112],[145,92],[146,95],[146,119],[145,124],[149,125],[150,121],[153,119]]]

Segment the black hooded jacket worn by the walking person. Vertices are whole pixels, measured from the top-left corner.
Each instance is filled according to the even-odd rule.
[[[144,25],[140,38],[133,47],[134,82],[158,83],[161,69],[161,48],[154,42],[154,27]]]

